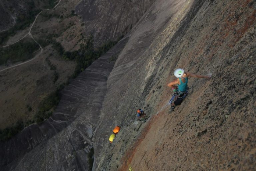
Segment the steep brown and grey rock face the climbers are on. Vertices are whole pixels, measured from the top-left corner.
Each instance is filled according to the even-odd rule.
[[[256,169],[255,5],[152,5],[108,78],[95,134],[96,170],[129,170],[128,163],[133,170]],[[178,67],[212,79],[190,78],[189,95],[172,112],[167,84]],[[146,124],[137,121],[138,108],[151,115]],[[116,125],[121,131],[109,144]]]

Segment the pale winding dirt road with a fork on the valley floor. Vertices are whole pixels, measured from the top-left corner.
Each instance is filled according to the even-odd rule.
[[[56,4],[52,9],[55,9],[55,8],[59,5],[60,2],[61,2],[61,0],[59,0],[58,4]],[[34,20],[34,22],[33,22],[33,24],[31,25],[31,27],[30,27],[30,29],[29,29],[29,32],[28,32],[25,36],[23,36],[23,38],[25,38],[27,35],[30,35],[31,38],[39,45],[40,48],[39,48],[38,50],[41,49],[41,52],[40,52],[39,54],[37,54],[34,58],[30,59],[30,60],[27,60],[27,61],[25,61],[25,62],[23,62],[23,63],[16,64],[16,65],[13,65],[13,66],[10,66],[10,67],[7,67],[7,68],[4,68],[4,69],[0,70],[0,72],[1,72],[1,71],[5,71],[5,70],[10,69],[10,68],[13,68],[13,67],[17,67],[17,66],[22,65],[22,64],[26,64],[26,63],[28,63],[28,62],[30,62],[30,61],[36,59],[36,58],[43,52],[44,49],[43,49],[42,46],[34,39],[33,35],[31,34],[31,29],[32,29],[32,27],[34,26],[34,24],[35,24],[35,22],[36,22],[36,20],[37,20],[37,17],[39,16],[39,14],[41,14],[44,10],[50,10],[50,9],[43,9],[40,13],[38,13],[37,16],[36,16],[36,18],[35,18],[35,20]],[[15,43],[21,41],[23,38],[19,39],[18,41],[14,42],[14,43],[9,44],[9,45],[13,45],[13,44],[15,44]],[[9,45],[2,46],[1,48],[8,47]],[[37,51],[38,51],[38,50],[37,50]],[[37,51],[36,51],[36,52],[37,52]]]

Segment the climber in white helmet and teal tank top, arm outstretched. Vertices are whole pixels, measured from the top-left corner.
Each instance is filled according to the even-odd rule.
[[[188,89],[187,83],[189,77],[211,79],[211,75],[196,75],[190,72],[185,72],[181,68],[176,69],[174,71],[174,75],[177,79],[167,84],[167,86],[171,87],[174,91],[177,91],[179,93],[177,99],[171,104],[172,111],[174,111],[175,106],[181,104],[183,96],[185,96],[186,91]]]

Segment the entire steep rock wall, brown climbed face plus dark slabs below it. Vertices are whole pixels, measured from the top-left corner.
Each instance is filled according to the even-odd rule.
[[[93,170],[127,170],[126,158],[138,170],[255,170],[255,1],[239,3],[158,0],[115,64],[105,54],[65,89],[59,112],[30,127],[38,131],[0,144],[0,169],[87,170],[93,146]],[[190,79],[171,112],[166,85],[177,67],[214,75]],[[151,116],[147,126],[137,108]]]

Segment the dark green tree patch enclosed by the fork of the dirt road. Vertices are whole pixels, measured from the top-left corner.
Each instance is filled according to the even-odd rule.
[[[21,41],[14,45],[0,48],[0,65],[25,61],[33,57],[33,53],[39,49],[36,42]]]

